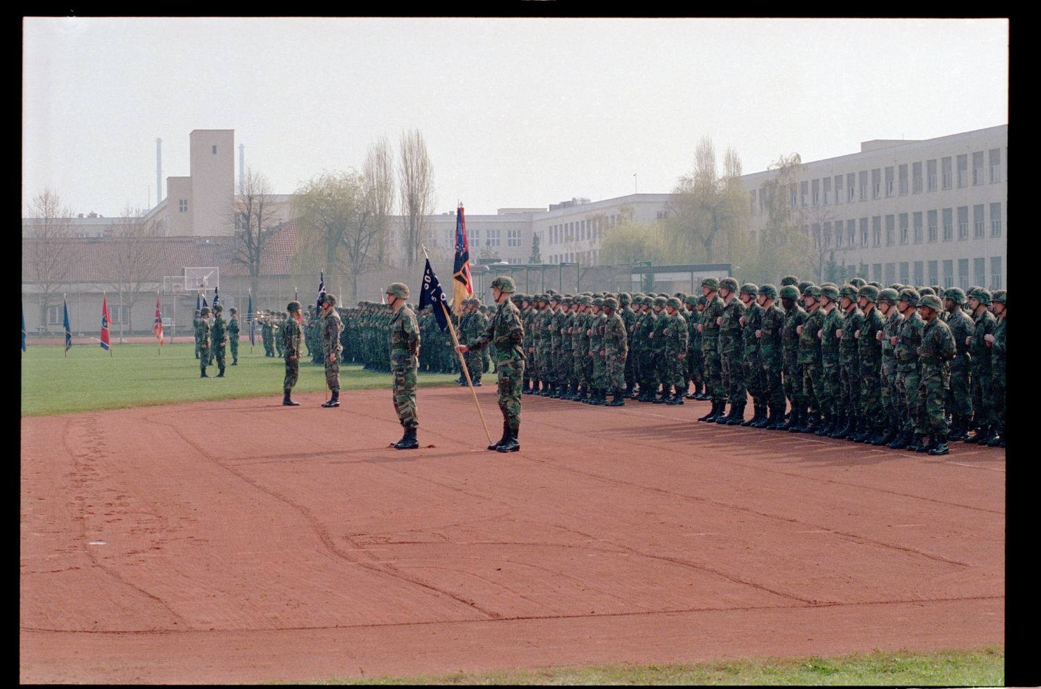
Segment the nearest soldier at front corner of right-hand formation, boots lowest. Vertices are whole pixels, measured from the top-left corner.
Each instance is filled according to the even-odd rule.
[[[918,452],[946,455],[947,419],[943,403],[950,387],[950,361],[958,354],[955,337],[943,318],[943,303],[939,297],[928,295],[918,302],[918,311],[925,322],[921,333],[918,355],[921,357],[921,380],[918,384],[918,406],[922,411],[923,428],[929,441],[918,445]]]

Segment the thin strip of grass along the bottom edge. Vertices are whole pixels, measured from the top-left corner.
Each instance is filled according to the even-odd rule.
[[[769,685],[1002,687],[1005,648],[858,654],[836,658],[766,659],[694,665],[600,665],[499,672],[456,672],[304,684],[440,685]]]

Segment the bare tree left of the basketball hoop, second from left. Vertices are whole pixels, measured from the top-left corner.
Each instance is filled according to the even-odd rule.
[[[162,282],[159,235],[154,221],[145,220],[130,208],[124,209],[121,222],[109,230],[108,281],[119,295],[119,305],[126,309],[126,317],[120,317],[121,339],[126,325],[133,323],[134,305]]]

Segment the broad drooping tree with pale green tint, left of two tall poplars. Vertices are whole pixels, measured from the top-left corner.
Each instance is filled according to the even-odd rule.
[[[325,173],[297,189],[294,204],[302,230],[298,259],[310,265],[319,261],[327,275],[342,270],[356,297],[377,232],[364,179],[353,170]]]

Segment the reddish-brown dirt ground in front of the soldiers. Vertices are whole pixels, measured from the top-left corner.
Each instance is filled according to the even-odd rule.
[[[498,439],[493,388],[478,397]],[[21,420],[20,680],[228,684],[1004,643],[1005,451],[389,390]]]

